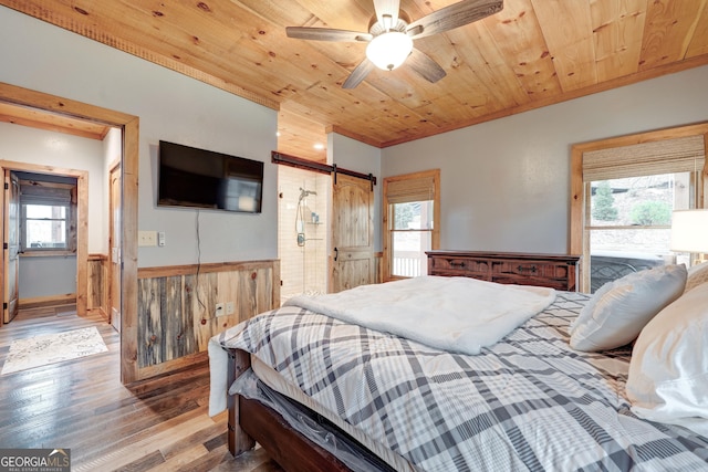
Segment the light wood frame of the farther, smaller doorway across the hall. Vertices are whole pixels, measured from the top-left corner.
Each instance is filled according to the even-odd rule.
[[[20,172],[44,174],[51,176],[73,177],[76,179],[76,313],[85,316],[88,293],[88,172],[86,170],[63,169],[40,164],[28,164],[12,160],[0,160],[0,174],[6,170]],[[4,209],[4,193],[0,197]],[[2,216],[3,224],[6,216]],[[0,266],[4,270],[4,253],[0,256]],[[0,295],[4,300],[4,285]]]

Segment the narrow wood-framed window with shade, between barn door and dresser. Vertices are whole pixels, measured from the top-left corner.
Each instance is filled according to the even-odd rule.
[[[426,251],[438,249],[440,171],[384,179],[384,280],[427,274]]]

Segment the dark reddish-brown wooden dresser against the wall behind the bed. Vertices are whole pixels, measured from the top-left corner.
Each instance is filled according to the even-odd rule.
[[[428,251],[428,275],[539,285],[574,292],[580,255],[520,252]]]

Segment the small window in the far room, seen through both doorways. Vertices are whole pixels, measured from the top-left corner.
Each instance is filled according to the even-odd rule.
[[[21,244],[24,254],[76,251],[76,186],[20,181]]]

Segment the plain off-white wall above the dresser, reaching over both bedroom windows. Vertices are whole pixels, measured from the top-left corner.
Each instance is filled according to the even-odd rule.
[[[440,169],[441,249],[566,253],[576,143],[708,120],[708,66],[382,150],[384,177]]]

